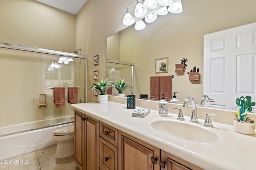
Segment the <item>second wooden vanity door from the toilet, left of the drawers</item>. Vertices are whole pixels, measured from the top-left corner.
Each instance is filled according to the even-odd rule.
[[[98,121],[86,116],[85,131],[86,135],[84,140],[85,145],[85,169],[86,170],[98,170],[98,148],[99,148],[99,133],[98,133]]]

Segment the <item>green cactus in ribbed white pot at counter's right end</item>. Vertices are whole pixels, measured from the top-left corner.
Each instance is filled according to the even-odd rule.
[[[247,113],[252,111],[252,106],[255,106],[255,102],[251,102],[251,96],[241,96],[240,99],[236,99],[236,105],[240,106],[238,113],[235,113],[234,129],[239,133],[246,135],[253,135],[255,131],[254,120],[251,120]]]

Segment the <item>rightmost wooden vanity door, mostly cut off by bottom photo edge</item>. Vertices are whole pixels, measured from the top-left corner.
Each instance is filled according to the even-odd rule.
[[[164,150],[161,150],[161,170],[202,170],[185,160],[178,158]]]

